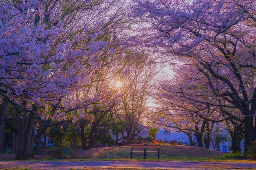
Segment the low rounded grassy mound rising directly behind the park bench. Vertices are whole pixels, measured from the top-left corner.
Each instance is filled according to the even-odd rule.
[[[134,150],[134,151],[143,151]],[[204,161],[220,158],[224,153],[191,146],[161,145],[160,160]],[[147,159],[157,159],[157,153],[146,153]],[[76,153],[79,159],[120,159],[130,158],[130,146],[101,147],[81,150]],[[144,159],[144,153],[133,153],[134,159]]]

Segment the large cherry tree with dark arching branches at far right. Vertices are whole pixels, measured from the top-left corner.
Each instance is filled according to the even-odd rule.
[[[208,78],[214,95],[244,116],[245,148],[250,146],[255,139],[255,2],[134,2],[134,16],[149,25],[144,42],[150,39],[154,50],[180,62],[190,60]]]

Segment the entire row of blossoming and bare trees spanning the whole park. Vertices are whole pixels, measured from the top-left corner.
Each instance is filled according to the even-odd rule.
[[[233,151],[241,136],[245,153],[253,144],[254,1],[0,5],[0,137],[4,128],[13,132],[16,159],[32,157],[49,127],[57,130],[56,146],[65,139],[81,141],[82,149],[96,147],[109,130],[116,143],[121,134],[129,144],[162,120],[185,132],[191,145],[194,134],[199,147],[203,139],[209,147],[217,123],[227,126]],[[173,66],[172,80],[156,83],[160,62]],[[160,105],[156,110],[148,107],[149,96]]]

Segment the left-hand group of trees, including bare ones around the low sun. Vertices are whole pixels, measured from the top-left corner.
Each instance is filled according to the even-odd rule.
[[[1,148],[12,134],[16,159],[33,157],[36,142],[41,154],[42,137],[55,146],[81,142],[85,150],[109,130],[116,142],[121,134],[129,144],[145,127],[139,124],[157,69],[147,54],[123,43],[133,34],[128,3],[15,0],[0,6]]]

